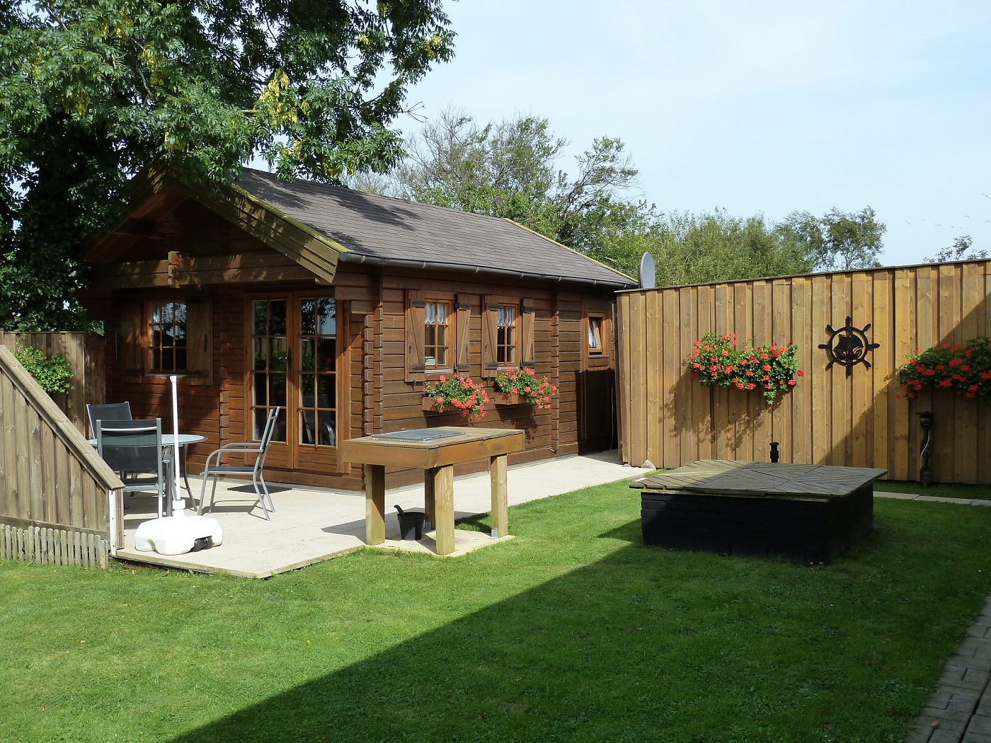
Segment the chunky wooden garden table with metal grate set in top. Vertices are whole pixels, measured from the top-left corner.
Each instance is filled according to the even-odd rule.
[[[366,543],[385,542],[385,468],[419,468],[424,471],[426,520],[437,530],[437,554],[450,555],[454,552],[454,466],[483,458],[489,458],[492,478],[493,532],[496,537],[508,534],[506,455],[523,450],[523,432],[511,428],[458,426],[425,430],[455,432],[458,436],[432,441],[396,441],[373,435],[342,444],[341,456],[345,462],[365,466]]]

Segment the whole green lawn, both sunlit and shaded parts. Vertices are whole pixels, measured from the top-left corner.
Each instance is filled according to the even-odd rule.
[[[875,521],[819,569],[648,549],[615,483],[455,560],[0,562],[0,738],[900,741],[988,592],[991,509]]]

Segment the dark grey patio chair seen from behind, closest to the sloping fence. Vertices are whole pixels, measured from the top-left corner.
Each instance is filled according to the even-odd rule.
[[[155,420],[94,421],[96,451],[110,469],[121,473],[124,492],[149,492],[159,496],[160,516],[165,515],[168,470],[162,449],[162,418]]]

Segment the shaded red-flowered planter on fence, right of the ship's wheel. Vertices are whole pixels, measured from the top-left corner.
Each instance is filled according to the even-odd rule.
[[[991,402],[991,338],[978,336],[955,346],[943,341],[906,359],[898,380],[909,397],[915,397],[928,384]]]

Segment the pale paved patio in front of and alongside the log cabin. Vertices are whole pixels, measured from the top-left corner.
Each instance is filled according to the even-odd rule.
[[[649,472],[625,467],[617,464],[617,460],[616,452],[612,451],[510,467],[509,505]],[[266,521],[257,505],[254,489],[244,481],[228,478],[217,486],[213,516],[224,529],[224,543],[209,550],[173,557],[134,549],[135,530],[142,521],[154,516],[155,498],[132,497],[131,507],[124,511],[125,542],[117,551],[118,558],[201,573],[268,578],[365,546],[364,492],[274,484],[270,489],[275,513],[271,521]],[[198,497],[199,478],[189,478],[189,483]],[[454,494],[456,518],[488,513],[492,505],[489,472],[455,478]],[[425,534],[419,542],[399,541],[399,525],[392,508],[396,503],[403,509],[422,509],[423,485],[386,490],[385,504],[390,510],[385,520],[386,539],[385,544],[375,549],[433,552],[432,532]],[[189,512],[193,511],[190,509]],[[511,520],[509,535],[504,539],[512,539]],[[496,541],[501,540],[481,532],[458,529],[455,531],[455,552],[449,557],[464,555]]]

